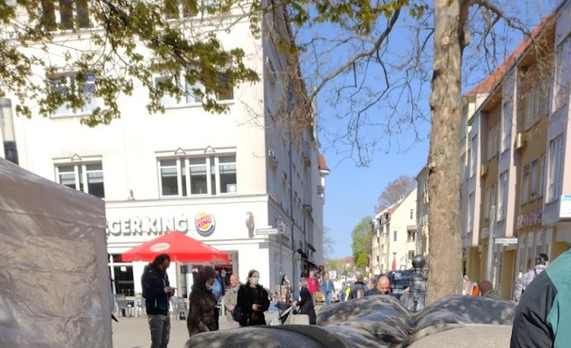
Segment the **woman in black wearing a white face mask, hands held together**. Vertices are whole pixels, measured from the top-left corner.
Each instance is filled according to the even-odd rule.
[[[259,280],[260,273],[252,269],[247,274],[246,285],[238,290],[240,326],[266,325],[264,312],[269,308],[269,296],[266,289],[258,284]]]

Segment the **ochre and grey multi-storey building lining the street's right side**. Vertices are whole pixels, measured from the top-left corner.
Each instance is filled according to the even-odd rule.
[[[569,1],[545,18],[507,61],[467,93],[461,206],[470,279],[511,298],[538,253],[569,247],[566,132]],[[566,167],[567,166],[567,167]]]

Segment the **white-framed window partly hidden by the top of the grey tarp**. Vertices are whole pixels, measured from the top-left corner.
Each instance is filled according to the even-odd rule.
[[[101,162],[63,164],[55,167],[57,182],[68,188],[105,198]]]

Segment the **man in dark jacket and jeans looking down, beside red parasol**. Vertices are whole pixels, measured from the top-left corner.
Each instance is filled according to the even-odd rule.
[[[150,328],[150,348],[166,348],[169,344],[169,298],[175,292],[175,288],[170,286],[167,275],[169,266],[170,257],[167,254],[160,254],[145,266],[140,277]]]

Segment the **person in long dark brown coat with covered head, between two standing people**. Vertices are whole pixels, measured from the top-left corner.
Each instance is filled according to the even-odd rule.
[[[198,280],[192,285],[189,298],[187,328],[190,337],[218,330],[217,299],[213,292],[216,275],[212,266],[202,266],[198,270]]]

